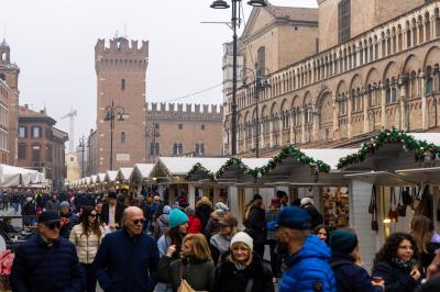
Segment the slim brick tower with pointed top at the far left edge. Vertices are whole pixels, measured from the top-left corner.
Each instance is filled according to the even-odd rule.
[[[11,64],[11,48],[7,41],[0,43],[0,79],[11,89],[8,98],[8,150],[9,164],[16,165],[18,127],[19,127],[19,74],[20,68]]]

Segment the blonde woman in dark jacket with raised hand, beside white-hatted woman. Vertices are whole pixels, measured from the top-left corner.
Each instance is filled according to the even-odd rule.
[[[183,280],[196,291],[211,291],[213,285],[215,266],[211,251],[202,234],[188,234],[182,245],[180,258],[173,260],[176,246],[168,247],[165,256],[157,265],[157,279],[172,283],[177,291]]]

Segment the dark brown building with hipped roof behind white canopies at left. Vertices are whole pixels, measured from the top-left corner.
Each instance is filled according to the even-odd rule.
[[[55,128],[56,121],[45,110],[36,112],[28,104],[19,108],[18,166],[45,173],[54,190],[66,179],[65,142],[67,133]]]

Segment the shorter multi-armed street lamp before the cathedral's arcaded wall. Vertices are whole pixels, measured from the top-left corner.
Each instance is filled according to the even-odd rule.
[[[252,70],[250,68],[244,68],[241,70],[243,85],[242,88],[248,88],[248,72],[250,72],[253,77],[254,82],[254,100],[255,100],[255,157],[260,157],[260,116],[258,116],[258,101],[260,101],[260,91],[271,87],[265,76],[265,72],[268,71],[267,68],[258,68],[258,64],[255,63],[255,69]]]

